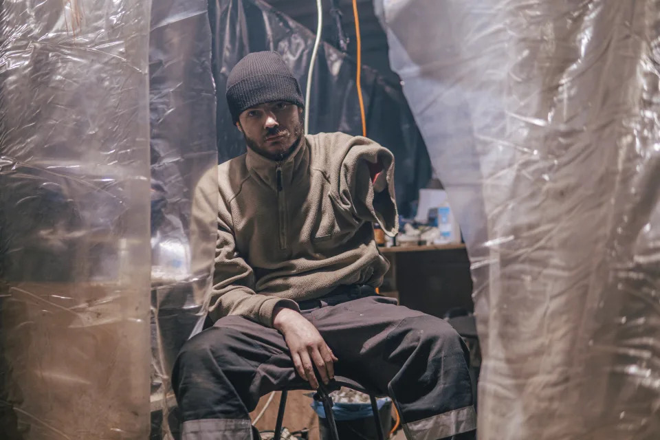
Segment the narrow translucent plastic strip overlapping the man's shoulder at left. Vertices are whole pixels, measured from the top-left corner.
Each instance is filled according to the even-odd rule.
[[[153,3],[149,80],[151,438],[160,439],[177,437],[169,377],[203,315],[217,238],[216,103],[206,0]]]

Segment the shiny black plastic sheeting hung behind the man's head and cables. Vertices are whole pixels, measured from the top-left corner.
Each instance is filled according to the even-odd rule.
[[[311,7],[314,4],[313,0],[309,3]],[[225,100],[232,67],[250,52],[274,50],[282,54],[304,91],[315,34],[259,0],[210,0],[209,8],[218,96],[218,151],[223,162],[245,153],[245,140],[233,126]],[[351,56],[329,44],[320,45],[311,87],[310,133],[362,135],[355,72]],[[407,216],[410,202],[417,200],[419,188],[431,177],[426,147],[400,89],[364,66],[362,93],[367,135],[389,148],[397,160],[396,197],[399,212]]]

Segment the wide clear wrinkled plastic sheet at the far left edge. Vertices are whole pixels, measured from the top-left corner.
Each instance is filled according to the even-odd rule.
[[[0,438],[148,436],[142,0],[0,3]]]

